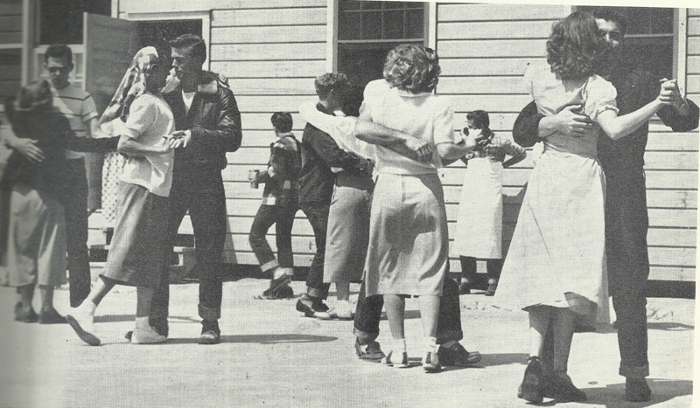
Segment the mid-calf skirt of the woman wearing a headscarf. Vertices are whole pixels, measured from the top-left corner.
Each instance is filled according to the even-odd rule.
[[[104,271],[122,285],[155,287],[167,262],[169,199],[122,183],[119,215]]]

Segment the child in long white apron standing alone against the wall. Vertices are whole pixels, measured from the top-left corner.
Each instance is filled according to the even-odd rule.
[[[462,158],[467,165],[459,200],[455,252],[462,264],[459,291],[469,294],[476,280],[476,260],[486,259],[489,287],[486,296],[496,293],[501,274],[503,227],[503,169],[525,159],[525,149],[494,135],[489,114],[482,110],[467,113],[463,133],[476,133],[477,147]],[[504,163],[506,156],[510,159]]]

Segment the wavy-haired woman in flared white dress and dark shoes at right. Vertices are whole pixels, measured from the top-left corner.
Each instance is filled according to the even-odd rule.
[[[615,88],[593,73],[605,46],[593,16],[572,13],[553,26],[549,65],[530,67],[525,75],[541,114],[575,108],[596,124],[584,136],[544,137],[496,294],[503,302],[515,299],[529,314],[530,358],[518,396],[531,402],[545,396],[586,399],[566,371],[574,327],[609,320],[605,179],[596,159],[597,140],[630,134],[665,103],[657,97],[618,117]],[[543,368],[539,358],[548,329],[554,334],[553,367]]]

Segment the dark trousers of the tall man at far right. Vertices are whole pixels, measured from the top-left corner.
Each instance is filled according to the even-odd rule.
[[[605,235],[608,281],[617,315],[620,375],[646,377],[647,315],[644,286],[649,278],[646,185],[640,168],[622,177],[607,174]]]

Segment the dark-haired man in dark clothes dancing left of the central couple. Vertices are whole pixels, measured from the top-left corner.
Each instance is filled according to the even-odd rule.
[[[333,114],[342,106],[342,97],[348,87],[345,74],[323,74],[316,78],[319,103],[316,108]],[[323,263],[326,251],[328,212],[333,195],[335,175],[332,168],[347,172],[371,173],[368,160],[348,153],[338,147],[332,137],[311,124],[307,124],[301,140],[302,167],[299,174],[299,207],[314,231],[316,254],[306,278],[306,293],[297,302],[297,310],[306,316],[330,319],[328,306],[323,300],[328,296],[330,284],[323,283]]]

